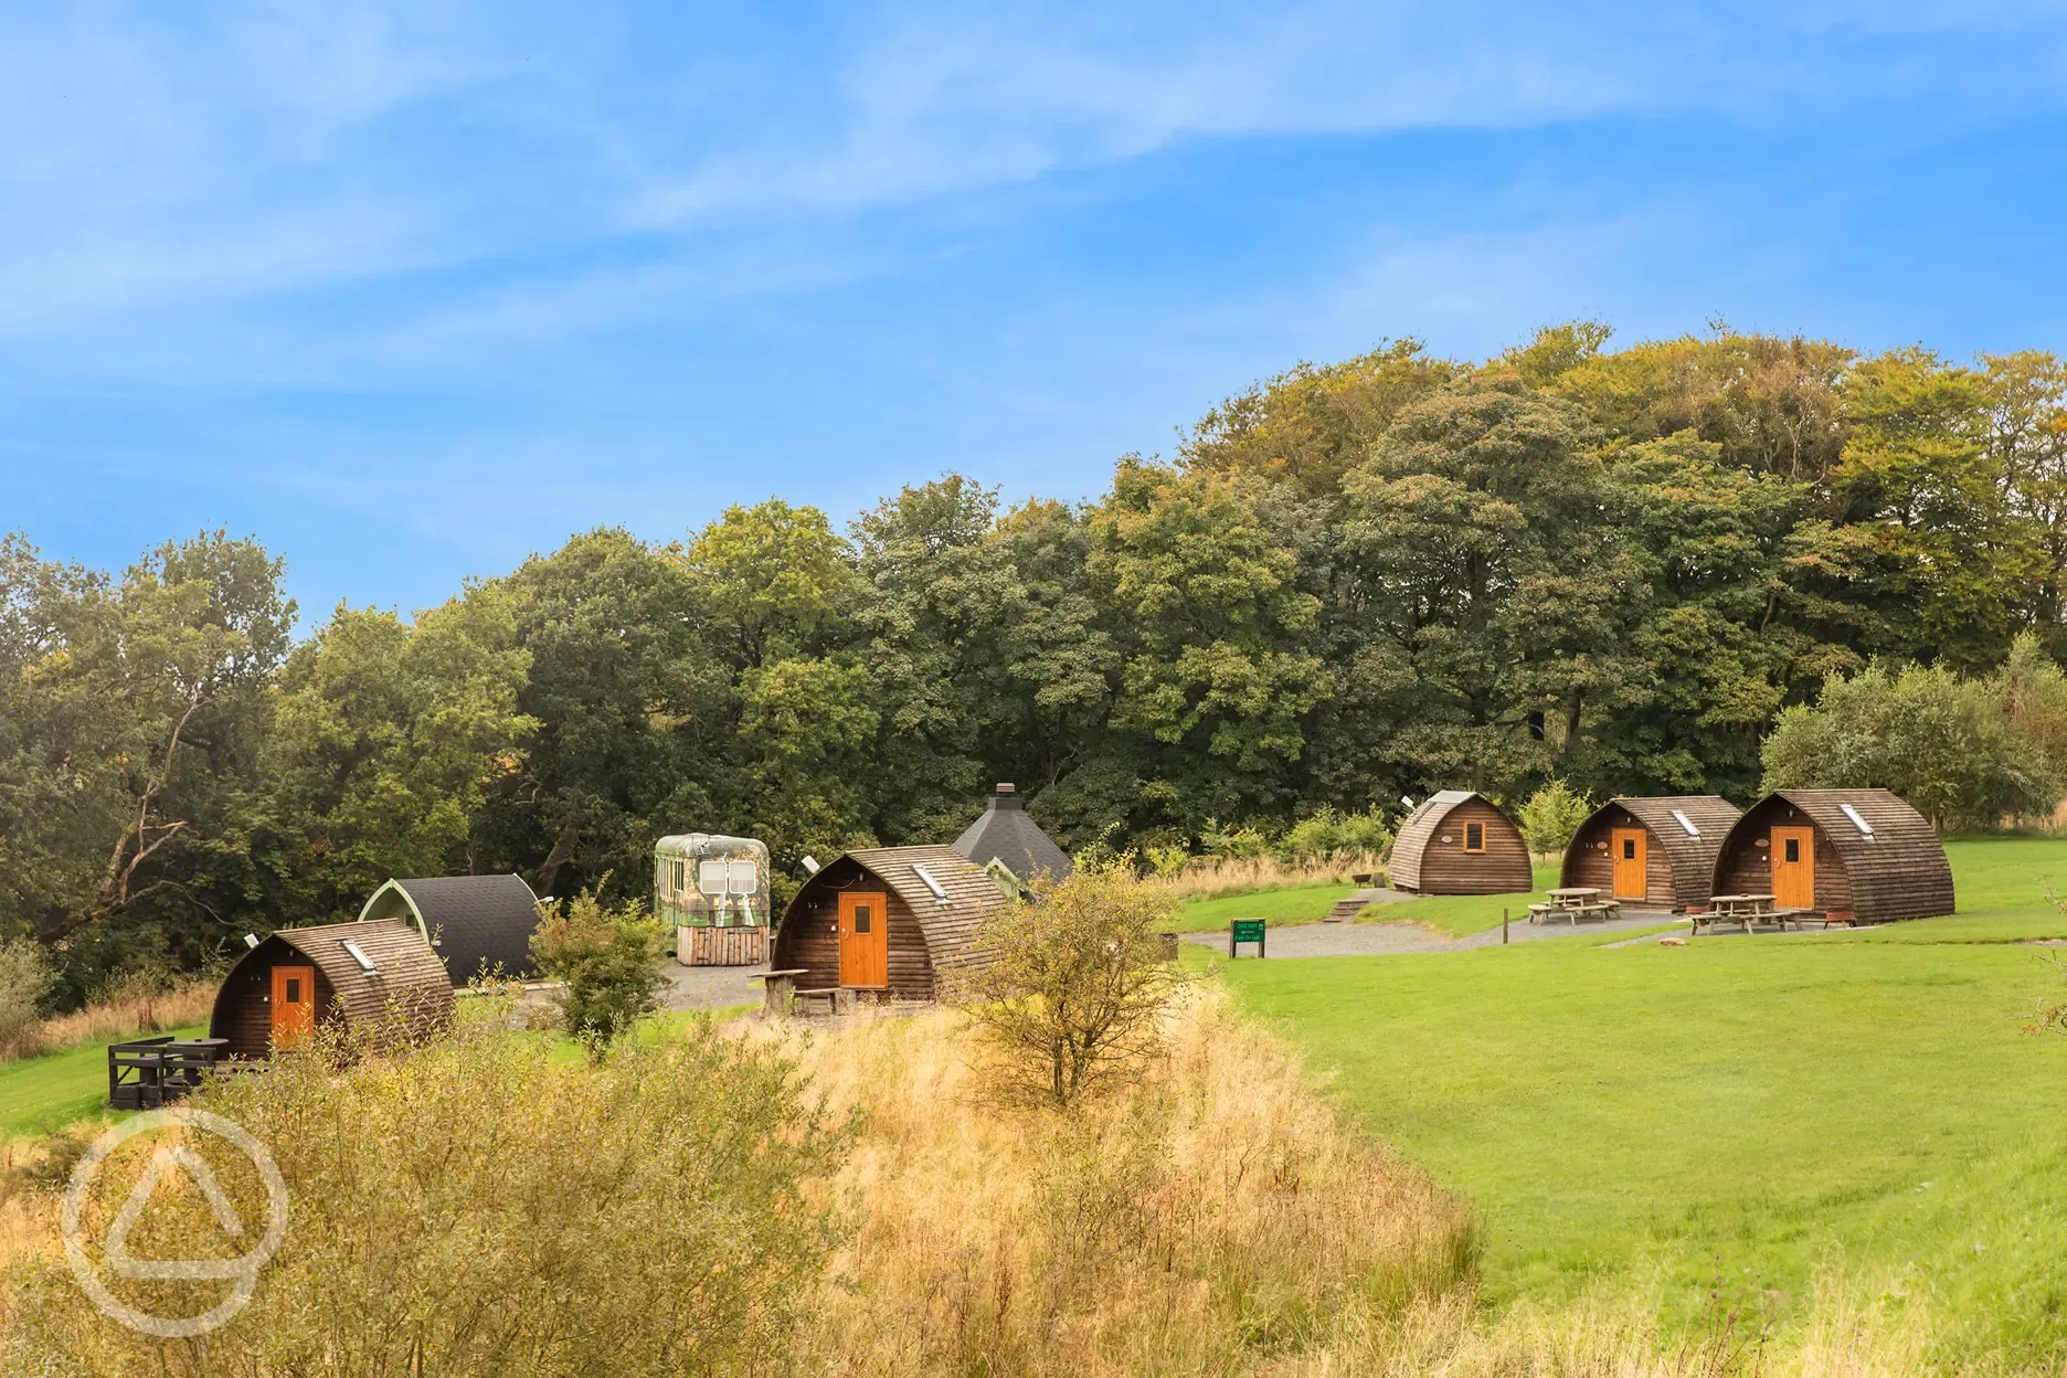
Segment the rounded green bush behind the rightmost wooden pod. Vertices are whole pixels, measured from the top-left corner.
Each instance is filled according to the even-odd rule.
[[[1869,665],[1780,715],[1761,748],[1765,787],[1893,789],[1939,826],[2050,814],[2061,777],[2017,729],[2003,678]]]

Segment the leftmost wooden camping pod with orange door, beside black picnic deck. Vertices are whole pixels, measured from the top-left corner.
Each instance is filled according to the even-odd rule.
[[[244,952],[215,992],[209,1037],[227,1058],[267,1058],[318,1029],[424,1037],[453,1016],[444,963],[407,919],[283,928]]]

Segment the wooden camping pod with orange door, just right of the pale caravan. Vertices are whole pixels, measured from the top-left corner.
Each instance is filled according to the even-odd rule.
[[[804,882],[775,930],[798,990],[932,1000],[943,973],[982,961],[976,930],[1013,901],[953,847],[850,851]]]

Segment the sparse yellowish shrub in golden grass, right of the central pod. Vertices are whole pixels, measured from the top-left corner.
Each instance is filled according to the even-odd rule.
[[[1133,1081],[1162,1047],[1178,973],[1158,934],[1176,901],[1131,862],[1079,862],[978,932],[990,961],[959,973],[949,996],[988,1045],[1000,1099],[1069,1107]]]

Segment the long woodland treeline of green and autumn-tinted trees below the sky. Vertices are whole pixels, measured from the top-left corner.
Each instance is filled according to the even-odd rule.
[[[0,936],[76,996],[391,874],[641,895],[686,828],[794,872],[1000,779],[1073,847],[1445,785],[1747,800],[1782,711],[1873,661],[1978,678],[2024,634],[2057,674],[2063,570],[2057,357],[1596,324],[1298,366],[1087,504],[769,500],[304,636],[252,539],[112,574],[14,535]]]

